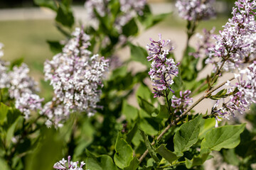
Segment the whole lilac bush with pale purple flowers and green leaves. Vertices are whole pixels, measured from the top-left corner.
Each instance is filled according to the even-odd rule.
[[[236,1],[219,34],[213,28],[199,35],[198,24],[215,16],[215,1],[177,0],[188,24],[179,60],[171,40],[161,34],[159,40],[149,38],[146,49],[133,44],[140,30],[168,16],[153,15],[145,0],[86,1],[90,20],[74,31],[70,1],[35,2],[57,13],[56,26],[66,40],[48,41],[55,55],[44,63],[45,99],[26,64],[0,60],[0,167],[206,169],[205,162],[218,152],[223,162],[252,169],[255,1]],[[199,38],[195,45],[193,35]],[[3,47],[0,43],[0,57]],[[123,47],[131,57],[120,61]],[[144,64],[141,71],[130,69],[134,62]],[[226,79],[231,71],[233,77]],[[215,105],[198,113],[195,107],[206,98]]]

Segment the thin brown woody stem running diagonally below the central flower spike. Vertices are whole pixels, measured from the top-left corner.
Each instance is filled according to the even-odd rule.
[[[233,79],[235,79],[235,77],[229,79],[228,81],[232,81]],[[201,101],[203,101],[204,98],[208,98],[208,96],[210,94],[213,93],[213,91],[219,89],[221,86],[223,86],[224,84],[226,84],[227,81],[224,81],[222,84],[219,84],[218,86],[215,86],[213,89],[211,89],[210,91],[208,91],[206,94],[204,94],[203,96],[201,96],[201,98],[199,98],[195,103],[193,103],[186,111],[184,111],[178,118],[176,118],[175,120],[171,121],[171,123],[161,132],[161,134],[156,138],[156,140],[154,140],[153,142],[151,142],[151,145],[155,145],[156,141],[159,141],[161,139],[161,137],[164,136],[164,134],[171,128],[172,125],[176,125],[176,123],[178,123],[185,115],[188,114],[189,111],[191,111],[196,105],[198,105],[198,103],[200,103]],[[139,158],[139,163],[142,162],[142,160],[144,159],[144,157],[146,157],[146,154],[149,153],[149,150],[146,149],[146,151],[144,152],[144,154],[142,154],[142,157]]]

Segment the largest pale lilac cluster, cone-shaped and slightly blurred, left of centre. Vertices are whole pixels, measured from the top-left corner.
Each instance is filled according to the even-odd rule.
[[[46,125],[61,126],[70,111],[85,111],[94,115],[102,91],[102,79],[109,67],[108,60],[87,50],[90,37],[76,28],[63,52],[47,60],[44,65],[45,79],[53,85],[53,101],[46,103],[41,114],[48,117]]]

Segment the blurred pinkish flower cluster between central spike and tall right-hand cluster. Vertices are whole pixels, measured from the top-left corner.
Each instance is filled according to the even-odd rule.
[[[211,30],[203,29],[203,35],[196,34],[196,36],[199,38],[196,52],[191,52],[189,55],[193,55],[193,57],[207,57],[208,60],[206,63],[211,62],[212,58],[212,49],[215,47],[215,42],[213,41],[215,28]]]

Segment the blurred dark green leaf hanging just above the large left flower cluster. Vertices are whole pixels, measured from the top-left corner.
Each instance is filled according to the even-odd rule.
[[[55,21],[61,23],[63,26],[68,26],[68,28],[71,28],[75,23],[71,8],[67,8],[63,4],[60,4]]]

